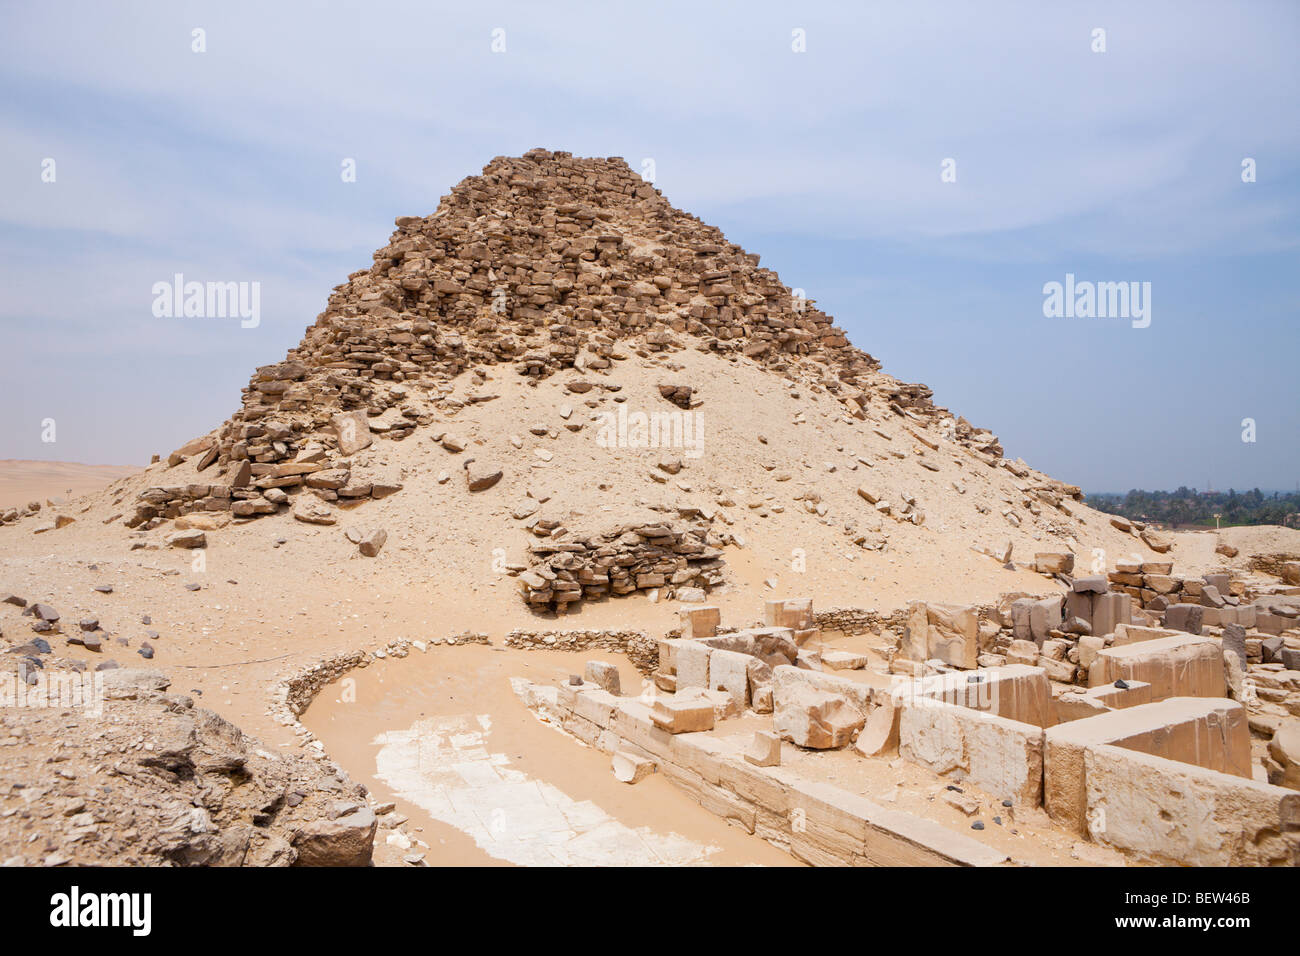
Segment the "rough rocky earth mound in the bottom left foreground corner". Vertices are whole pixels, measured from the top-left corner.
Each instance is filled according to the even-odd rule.
[[[118,866],[370,862],[373,814],[346,777],[264,749],[188,696],[169,692],[157,671],[105,661],[92,672],[105,698],[101,713],[0,711],[0,741],[25,741],[5,749],[0,784],[0,858],[9,865],[35,866],[51,856]],[[66,747],[69,740],[78,747]],[[51,748],[57,774],[47,771]],[[18,780],[27,783],[9,786]]]

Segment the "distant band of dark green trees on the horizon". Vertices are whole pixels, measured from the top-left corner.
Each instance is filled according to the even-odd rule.
[[[1300,527],[1300,493],[1271,492],[1140,492],[1089,494],[1088,503],[1098,511],[1122,515],[1139,522],[1157,522],[1169,527],[1221,527],[1232,524],[1287,524]]]

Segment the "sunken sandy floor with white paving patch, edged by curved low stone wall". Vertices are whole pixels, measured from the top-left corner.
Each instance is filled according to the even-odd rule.
[[[398,812],[410,817],[407,832],[419,835],[429,844],[425,860],[429,865],[516,862],[511,856],[517,847],[511,844],[529,836],[530,827],[540,826],[537,821],[529,819],[533,787],[523,787],[520,793],[519,788],[515,792],[504,787],[473,792],[459,786],[451,790],[452,800],[468,801],[465,810],[477,814],[484,823],[481,829],[469,827],[478,834],[480,842],[476,843],[465,830],[432,816],[430,808],[434,813],[442,813],[442,808],[428,800],[424,805],[417,803],[413,799],[415,788],[400,775],[386,773],[381,766],[385,734],[406,730],[420,721],[433,719],[434,728],[447,726],[446,721],[438,722],[437,718],[460,717],[468,718],[462,722],[464,727],[458,727],[462,734],[467,728],[472,732],[481,731],[478,718],[485,718],[482,723],[490,727],[484,734],[486,749],[500,754],[502,766],[508,766],[529,782],[546,782],[573,803],[599,808],[606,817],[633,831],[649,832],[659,839],[679,838],[697,848],[698,857],[690,855],[688,862],[796,865],[786,853],[728,826],[722,818],[702,809],[662,777],[642,780],[634,788],[619,783],[610,771],[607,754],[541,723],[511,689],[512,676],[538,683],[566,680],[575,669],[581,670],[582,662],[588,659],[619,665],[625,684],[638,687],[640,675],[636,669],[619,656],[529,652],[482,645],[437,646],[430,648],[426,654],[412,652],[404,659],[377,662],[354,671],[350,675],[352,680],[346,687],[343,682],[337,682],[317,697],[317,702],[306,714],[304,724],[325,743],[330,756],[344,770],[356,779],[368,780],[376,799],[396,803]],[[439,762],[436,754],[429,753],[424,757],[420,769],[429,778],[445,775],[448,763],[459,762]],[[564,805],[562,800],[555,803]],[[455,813],[442,816],[458,818]],[[402,855],[389,848],[382,839],[381,844],[381,862],[385,857]],[[649,862],[641,856],[638,843],[625,845],[615,839],[608,845],[608,857],[594,857],[593,862]],[[582,861],[581,857],[571,856],[577,851],[564,845],[552,848],[552,852],[554,862]]]

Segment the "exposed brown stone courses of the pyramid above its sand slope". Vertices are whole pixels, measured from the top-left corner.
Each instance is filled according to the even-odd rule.
[[[924,385],[881,373],[757,255],[673,208],[619,157],[499,156],[433,215],[399,217],[373,259],[334,289],[283,362],[254,373],[220,429],[169,455],[172,466],[212,468],[212,483],[147,489],[130,527],[194,511],[255,519],[291,510],[300,494],[382,497],[393,484],[358,476],[354,455],[493,398],[452,397],[448,381],[467,369],[480,372],[477,385],[489,365],[530,381],[568,369],[597,377],[630,352],[686,347],[777,372],[820,368],[849,419],[874,408],[920,428],[942,421],[954,441],[1001,463],[993,434],[937,408]],[[682,408],[698,405],[690,385],[660,392]],[[469,480],[486,489],[493,473]],[[919,523],[915,514],[905,516]]]

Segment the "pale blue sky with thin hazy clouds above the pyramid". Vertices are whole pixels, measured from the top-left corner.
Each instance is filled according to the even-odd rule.
[[[1254,1],[0,0],[0,458],[208,432],[394,217],[545,147],[650,160],[1010,458],[1295,488],[1297,40]],[[260,320],[155,315],[177,273]],[[1067,274],[1149,312],[1045,315]]]

